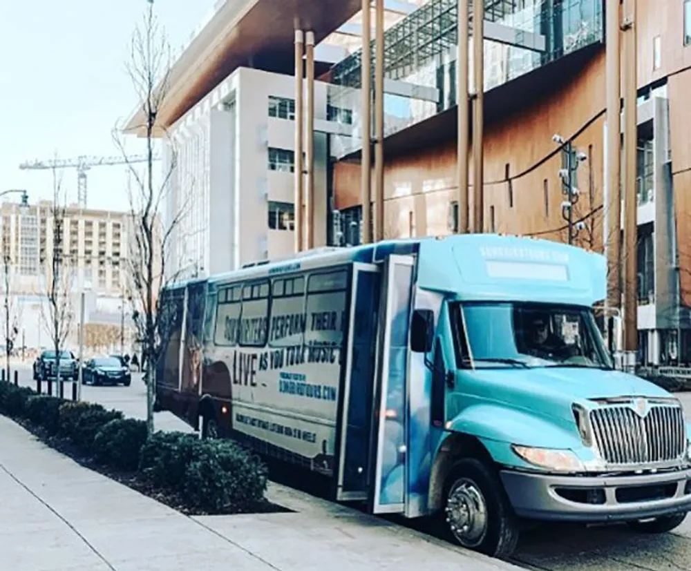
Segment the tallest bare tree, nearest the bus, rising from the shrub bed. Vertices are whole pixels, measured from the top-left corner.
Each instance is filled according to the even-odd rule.
[[[146,164],[143,175],[129,162],[121,137],[122,130],[113,130],[113,139],[120,149],[134,184],[128,190],[131,214],[131,241],[129,262],[129,289],[132,291],[133,322],[142,346],[142,370],[146,383],[146,426],[153,432],[153,401],[155,398],[155,365],[161,349],[167,344],[167,330],[162,318],[162,292],[167,282],[166,262],[169,246],[184,212],[185,204],[175,211],[167,211],[163,220],[164,203],[169,182],[176,168],[176,153],[165,126],[158,122],[159,112],[169,91],[171,75],[171,48],[164,30],[160,28],[149,0],[142,23],[135,28],[131,39],[131,54],[126,67],[139,101],[142,124],[139,133],[146,137]],[[167,139],[171,152],[168,170],[157,184],[153,177],[155,138]],[[189,197],[191,189],[186,189]],[[186,200],[189,200],[187,198]],[[170,205],[169,205],[170,206]]]

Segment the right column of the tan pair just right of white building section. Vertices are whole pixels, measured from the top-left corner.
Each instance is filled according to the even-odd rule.
[[[375,0],[375,241],[384,240],[384,0]]]

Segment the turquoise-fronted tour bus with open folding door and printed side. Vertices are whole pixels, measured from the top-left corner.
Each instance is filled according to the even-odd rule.
[[[691,509],[691,432],[613,367],[606,281],[601,255],[485,234],[174,284],[156,406],[496,557],[523,520],[666,532]]]

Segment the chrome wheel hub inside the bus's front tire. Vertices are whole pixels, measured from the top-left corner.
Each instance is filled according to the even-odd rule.
[[[461,545],[474,548],[487,533],[487,505],[475,482],[459,478],[448,492],[446,522]]]

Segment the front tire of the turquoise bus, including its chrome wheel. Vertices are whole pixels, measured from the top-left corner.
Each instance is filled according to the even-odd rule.
[[[454,543],[508,559],[518,543],[518,520],[495,470],[476,458],[464,458],[444,485],[442,519]]]

